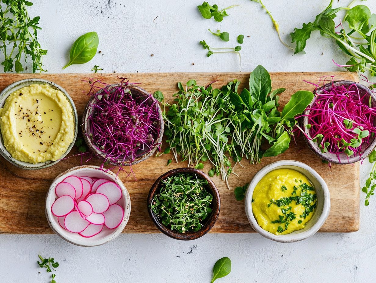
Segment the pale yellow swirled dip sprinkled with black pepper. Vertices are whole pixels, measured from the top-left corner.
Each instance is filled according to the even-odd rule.
[[[17,160],[38,163],[58,160],[74,138],[71,104],[48,84],[18,89],[0,109],[6,150]]]

